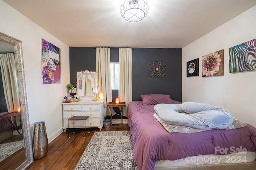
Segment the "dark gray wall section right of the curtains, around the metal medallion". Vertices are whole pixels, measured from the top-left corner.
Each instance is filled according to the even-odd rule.
[[[166,75],[149,76],[150,61],[163,61]],[[181,102],[182,49],[136,48],[132,51],[132,99],[142,94],[167,94]]]

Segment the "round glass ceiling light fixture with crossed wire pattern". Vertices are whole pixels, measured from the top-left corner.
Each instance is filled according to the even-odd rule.
[[[148,3],[145,0],[124,0],[120,12],[125,20],[138,22],[148,14]]]

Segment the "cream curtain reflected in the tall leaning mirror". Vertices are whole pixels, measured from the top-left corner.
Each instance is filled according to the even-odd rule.
[[[20,107],[20,100],[14,54],[0,54],[0,66],[4,87],[4,97],[6,100],[8,112],[18,111],[18,107]],[[20,125],[19,119],[20,116],[16,116],[17,125]],[[12,117],[12,122],[14,122],[14,117]]]

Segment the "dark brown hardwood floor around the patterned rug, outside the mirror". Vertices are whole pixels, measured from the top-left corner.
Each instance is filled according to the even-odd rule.
[[[122,130],[129,130],[128,124],[123,124]],[[49,143],[47,155],[34,160],[26,170],[74,170],[95,131],[99,129],[90,128],[90,133],[86,132],[86,138],[84,135],[70,135],[68,139],[68,133],[62,133]],[[102,128],[102,131],[105,129]],[[120,127],[112,128],[112,131],[120,131]]]

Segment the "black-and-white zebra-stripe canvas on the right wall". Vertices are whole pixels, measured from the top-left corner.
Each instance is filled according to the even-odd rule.
[[[256,39],[228,49],[229,72],[256,70]]]

